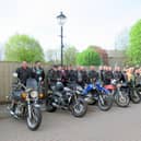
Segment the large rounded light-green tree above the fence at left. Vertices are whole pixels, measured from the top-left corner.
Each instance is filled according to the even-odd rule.
[[[37,40],[27,35],[13,35],[4,46],[7,61],[44,61],[44,51]]]

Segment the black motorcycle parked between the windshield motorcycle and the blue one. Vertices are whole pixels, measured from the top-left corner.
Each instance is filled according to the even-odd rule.
[[[61,82],[51,86],[51,93],[47,96],[47,111],[56,111],[57,108],[71,111],[74,117],[83,117],[87,110],[87,104],[74,90],[64,87]]]

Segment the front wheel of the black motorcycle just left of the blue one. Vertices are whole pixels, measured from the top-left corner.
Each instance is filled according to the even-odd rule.
[[[74,117],[83,117],[86,114],[87,104],[83,98],[79,97],[71,103],[70,110]]]

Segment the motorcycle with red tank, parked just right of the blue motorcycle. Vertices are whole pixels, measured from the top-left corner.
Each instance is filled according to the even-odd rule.
[[[117,80],[111,80],[111,84],[105,85],[105,89],[110,91],[115,103],[119,107],[128,107],[130,103],[129,93],[127,92],[127,84]]]

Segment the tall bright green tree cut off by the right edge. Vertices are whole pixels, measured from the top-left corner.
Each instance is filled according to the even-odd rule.
[[[141,63],[141,20],[130,31],[129,47],[127,48],[128,63]]]

